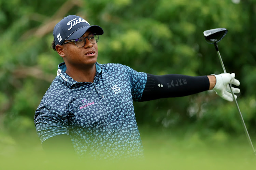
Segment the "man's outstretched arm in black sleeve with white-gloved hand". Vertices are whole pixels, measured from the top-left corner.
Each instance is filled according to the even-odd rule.
[[[147,73],[147,82],[139,101],[182,97],[211,89],[225,100],[233,101],[228,83],[240,85],[240,82],[234,79],[234,76],[234,73],[198,77],[181,74],[153,75]],[[232,90],[234,93],[240,92],[238,88],[232,87]]]

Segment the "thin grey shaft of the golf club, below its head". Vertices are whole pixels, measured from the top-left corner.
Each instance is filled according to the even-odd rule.
[[[227,73],[227,72],[226,72],[226,69],[225,69],[225,66],[224,66],[224,64],[223,64],[222,58],[221,58],[221,53],[219,53],[219,51],[217,51],[217,54],[218,54],[218,57],[219,57],[219,61],[221,62],[221,65],[222,65],[222,68],[223,68],[224,73]],[[229,83],[229,87],[230,87],[230,91],[231,91],[231,93],[232,93],[234,102],[236,103],[236,106],[237,106],[237,109],[238,109],[238,112],[239,112],[239,116],[240,116],[240,119],[241,119],[241,122],[242,122],[242,125],[243,125],[243,128],[244,128],[245,135],[246,135],[247,140],[248,140],[248,142],[250,143],[250,145],[251,145],[251,147],[252,147],[252,149],[253,149],[253,153],[256,155],[255,149],[254,149],[254,147],[253,147],[252,140],[251,140],[250,135],[249,135],[249,133],[248,133],[248,131],[247,131],[246,125],[245,125],[245,123],[244,123],[243,116],[242,116],[242,114],[241,114],[240,108],[239,108],[238,103],[237,103],[237,99],[234,97],[234,93],[233,93],[232,88],[231,88],[232,85],[231,85],[230,83]]]

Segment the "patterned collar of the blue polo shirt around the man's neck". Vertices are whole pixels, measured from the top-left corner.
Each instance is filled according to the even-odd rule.
[[[102,68],[100,67],[99,63],[95,64],[96,66],[96,74],[99,74],[102,72]],[[67,73],[66,73],[67,67],[65,62],[62,62],[58,65],[58,71],[57,71],[57,79],[60,80],[63,84],[71,88],[76,83],[87,83],[87,82],[77,82],[74,79],[72,79]]]

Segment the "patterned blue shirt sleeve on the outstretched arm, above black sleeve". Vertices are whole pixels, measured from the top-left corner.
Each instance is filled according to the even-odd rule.
[[[132,99],[134,101],[139,101],[147,82],[147,74],[133,70],[128,66],[126,66],[126,69],[128,70],[128,76],[131,83]]]

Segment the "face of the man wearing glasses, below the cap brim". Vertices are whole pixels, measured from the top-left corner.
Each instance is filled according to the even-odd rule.
[[[86,31],[83,37],[87,37],[92,32]],[[76,68],[84,68],[85,65],[94,65],[97,62],[98,57],[98,45],[92,44],[88,38],[85,39],[86,43],[83,47],[77,47],[74,42],[70,42],[63,45],[63,57],[67,66],[74,66]],[[64,42],[67,42],[66,40]]]

